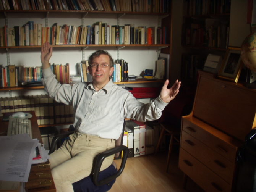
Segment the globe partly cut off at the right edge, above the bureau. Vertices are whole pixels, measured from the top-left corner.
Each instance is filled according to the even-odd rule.
[[[256,72],[256,31],[248,35],[241,46],[241,60],[251,71]]]

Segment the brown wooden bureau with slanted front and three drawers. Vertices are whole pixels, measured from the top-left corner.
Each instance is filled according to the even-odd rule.
[[[179,168],[206,192],[233,191],[237,150],[255,114],[255,89],[199,71],[193,110],[182,118]]]

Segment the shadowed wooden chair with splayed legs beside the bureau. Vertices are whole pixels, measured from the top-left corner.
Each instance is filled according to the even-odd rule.
[[[157,142],[155,155],[159,151],[164,134],[170,136],[166,172],[169,171],[173,144],[180,143],[181,118],[182,116],[188,115],[191,112],[192,106],[193,99],[180,94],[177,95],[177,97],[175,97],[175,99],[171,101],[162,111],[162,116],[159,119],[161,132]]]

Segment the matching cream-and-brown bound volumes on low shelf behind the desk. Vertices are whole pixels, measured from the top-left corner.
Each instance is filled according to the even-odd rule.
[[[35,111],[38,125],[73,123],[73,106],[54,102],[48,95],[1,97],[1,113]]]

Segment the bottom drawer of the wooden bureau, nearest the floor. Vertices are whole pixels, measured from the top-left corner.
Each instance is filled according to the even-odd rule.
[[[207,192],[231,191],[230,184],[221,179],[217,174],[212,172],[182,148],[180,148],[179,168]]]

